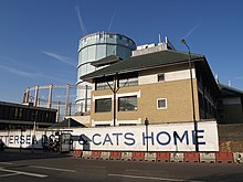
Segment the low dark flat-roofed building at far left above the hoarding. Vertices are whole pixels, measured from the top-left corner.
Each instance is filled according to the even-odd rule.
[[[55,124],[56,110],[0,101],[0,129],[46,128]]]

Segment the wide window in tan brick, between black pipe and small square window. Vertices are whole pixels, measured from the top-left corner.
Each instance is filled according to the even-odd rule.
[[[137,110],[137,96],[119,97],[119,111]]]

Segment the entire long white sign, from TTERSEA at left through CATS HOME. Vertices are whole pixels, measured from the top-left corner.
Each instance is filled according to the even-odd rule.
[[[10,148],[43,148],[47,141],[55,140],[55,132],[54,130],[0,131],[0,140]],[[70,147],[87,151],[196,150],[193,122],[78,128],[68,133],[61,138],[63,151],[68,151]],[[219,151],[215,121],[198,122],[198,144],[199,151]]]

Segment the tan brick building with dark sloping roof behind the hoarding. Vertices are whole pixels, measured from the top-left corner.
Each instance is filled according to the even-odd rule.
[[[215,119],[216,82],[204,55],[190,60],[196,120]],[[81,78],[93,84],[93,127],[193,120],[188,53],[154,47]]]

